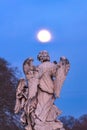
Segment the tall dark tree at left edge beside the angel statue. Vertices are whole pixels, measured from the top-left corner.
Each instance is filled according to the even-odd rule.
[[[18,70],[0,58],[0,130],[18,130],[13,119]]]

